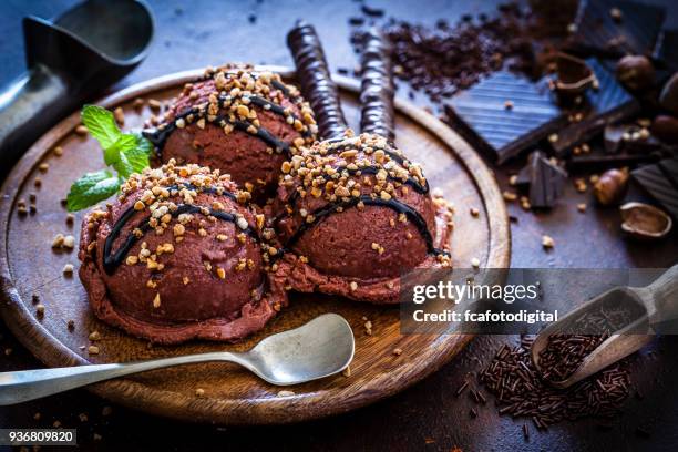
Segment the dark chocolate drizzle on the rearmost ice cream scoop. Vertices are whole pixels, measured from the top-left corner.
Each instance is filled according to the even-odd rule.
[[[289,93],[289,90],[285,86],[285,84],[279,83],[278,81],[271,81],[271,85],[280,91],[282,93],[282,95],[287,99],[289,99],[291,102],[299,102],[300,99],[298,96],[291,96]],[[219,94],[218,96],[218,107],[224,109],[224,104],[226,102],[227,96],[226,95],[222,95]],[[265,111],[269,111],[274,114],[277,114],[279,116],[285,116],[285,107],[282,107],[281,105],[271,102],[267,99],[260,97],[258,95],[250,95],[249,100],[253,104],[260,106],[261,109],[264,109]],[[268,109],[266,109],[268,106]],[[162,158],[162,152],[163,152],[163,147],[165,146],[165,143],[167,142],[167,138],[170,137],[170,135],[176,130],[178,129],[176,126],[176,120],[184,120],[186,121],[188,119],[188,116],[197,116],[197,117],[205,117],[206,116],[206,109],[198,109],[197,106],[193,106],[191,109],[185,110],[184,112],[177,114],[173,121],[165,123],[161,126],[158,126],[157,129],[153,130],[153,131],[143,131],[142,134],[151,142],[153,143],[153,145],[156,148],[156,154],[160,158]],[[294,113],[291,114],[291,116],[297,121],[300,121],[300,119],[295,115]],[[278,138],[276,135],[274,135],[269,130],[265,129],[265,127],[256,127],[257,132],[256,133],[251,133],[249,131],[249,127],[253,126],[253,124],[245,122],[245,121],[230,121],[228,115],[225,114],[220,114],[217,115],[214,121],[210,121],[210,123],[217,123],[219,124],[219,126],[225,126],[226,124],[230,124],[234,126],[234,129],[242,131],[242,132],[246,132],[249,133],[253,136],[258,137],[259,140],[261,140],[264,143],[266,143],[267,145],[271,146],[275,152],[282,152],[285,153],[285,155],[287,155],[287,157],[291,156],[291,152],[289,148],[289,144],[284,142],[282,140]],[[311,136],[311,132],[307,129],[306,131],[301,132],[301,136],[304,136],[305,138],[308,138],[309,136]]]

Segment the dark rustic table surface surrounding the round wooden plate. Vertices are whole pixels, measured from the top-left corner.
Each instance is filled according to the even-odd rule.
[[[648,0],[649,1],[649,0]],[[654,0],[657,2],[659,0]],[[671,0],[667,23],[678,25]],[[21,18],[50,18],[66,9],[68,0],[9,0],[0,2],[0,82],[23,70]],[[298,18],[312,22],[326,45],[332,68],[353,68],[348,18],[361,3],[351,1],[160,1],[148,0],[155,14],[156,37],[145,62],[115,86],[153,76],[227,61],[290,65],[286,31]],[[495,1],[390,1],[370,3],[388,16],[433,24],[454,22],[464,13],[493,13]],[[515,168],[513,168],[515,170]],[[497,168],[502,186],[510,170]],[[590,193],[567,187],[564,199],[549,214],[523,212],[510,205],[513,267],[627,268],[667,267],[678,258],[678,234],[657,244],[624,238],[615,208],[576,210],[590,202]],[[542,234],[555,239],[545,251]],[[355,412],[295,425],[230,428],[196,425],[154,418],[111,405],[84,390],[38,402],[0,409],[0,428],[47,428],[54,421],[78,428],[82,449],[96,450],[666,450],[678,449],[678,337],[660,337],[634,357],[633,379],[643,397],[629,399],[612,425],[596,421],[562,423],[547,432],[532,430],[523,438],[523,421],[499,417],[491,402],[473,419],[472,401],[455,391],[469,372],[486,363],[501,342],[517,337],[477,337],[435,374],[374,405]],[[40,367],[0,323],[0,371]],[[35,413],[40,413],[39,417]],[[86,421],[81,420],[86,415]],[[39,418],[39,419],[34,419]]]

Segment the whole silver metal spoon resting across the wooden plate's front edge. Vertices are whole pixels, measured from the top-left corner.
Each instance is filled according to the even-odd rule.
[[[267,337],[253,349],[163,358],[121,364],[78,366],[0,373],[0,405],[10,405],[113,378],[173,366],[235,362],[276,386],[333,376],[353,359],[353,331],[343,317],[325,314],[299,328]]]

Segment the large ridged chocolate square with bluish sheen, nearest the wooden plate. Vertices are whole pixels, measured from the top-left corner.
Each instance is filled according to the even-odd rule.
[[[567,123],[547,82],[495,72],[452,97],[445,113],[458,132],[501,164]]]

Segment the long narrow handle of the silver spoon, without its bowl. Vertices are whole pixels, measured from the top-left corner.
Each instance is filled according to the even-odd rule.
[[[0,373],[0,405],[27,402],[83,386],[173,366],[230,361],[251,370],[242,353],[213,352],[116,364],[76,366]]]

